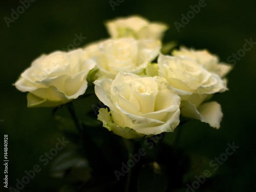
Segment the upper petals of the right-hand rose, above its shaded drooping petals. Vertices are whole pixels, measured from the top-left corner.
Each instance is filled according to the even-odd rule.
[[[227,90],[226,82],[220,76],[208,72],[189,57],[160,54],[158,65],[159,75],[165,77],[170,89],[179,95],[212,94]]]

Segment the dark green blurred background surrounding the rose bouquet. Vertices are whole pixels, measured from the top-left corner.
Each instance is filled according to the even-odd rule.
[[[183,126],[177,145],[205,156],[210,162],[225,153],[228,143],[234,142],[234,145],[239,146],[237,151],[228,156],[216,171],[208,166],[215,176],[197,190],[253,190],[256,181],[256,127],[253,123],[256,115],[256,46],[252,43],[249,51],[241,49],[248,44],[245,39],[256,42],[256,2],[206,0],[206,6],[201,7],[198,14],[177,30],[174,23],[182,24],[182,14],[187,15],[191,6],[198,4],[199,1],[194,0],[38,0],[30,2],[24,11],[19,8],[20,14],[15,16],[12,15],[12,9],[17,11],[22,4],[19,1],[1,0],[0,151],[4,153],[4,135],[7,134],[9,186],[15,187],[16,179],[22,179],[24,171],[33,169],[36,164],[42,170],[22,191],[58,191],[62,184],[61,180],[54,179],[50,174],[54,159],[49,160],[47,165],[42,165],[39,160],[41,155],[55,147],[57,138],[62,138],[52,116],[53,109],[28,109],[26,94],[16,90],[12,83],[40,54],[72,49],[73,40],[80,34],[86,37],[81,40],[80,46],[106,38],[108,33],[103,25],[106,20],[139,14],[151,21],[169,25],[163,42],[175,40],[179,45],[208,49],[217,54],[221,61],[228,62],[228,58],[231,58],[231,64],[236,63],[227,76],[229,91],[216,94],[213,98],[222,105],[224,117],[221,128],[215,130],[205,123],[190,121]],[[239,55],[232,58],[232,54]],[[82,108],[88,110],[93,104],[90,102],[93,101],[77,101],[75,106],[79,106],[81,111]],[[72,144],[63,148],[63,151],[70,148]],[[3,157],[4,154],[1,159]],[[0,170],[2,179],[3,165]],[[2,181],[0,191],[5,190]]]

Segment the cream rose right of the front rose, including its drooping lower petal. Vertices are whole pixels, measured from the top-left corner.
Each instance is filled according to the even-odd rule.
[[[226,91],[226,82],[189,57],[160,55],[158,65],[159,75],[166,78],[170,89],[181,96],[181,114],[219,128],[223,116],[220,104],[201,103],[211,94]]]

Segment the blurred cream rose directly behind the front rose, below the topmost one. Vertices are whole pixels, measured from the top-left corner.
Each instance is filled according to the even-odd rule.
[[[141,73],[157,57],[160,48],[160,41],[121,38],[100,41],[84,50],[94,50],[92,59],[99,68],[98,77],[114,79],[118,72]]]

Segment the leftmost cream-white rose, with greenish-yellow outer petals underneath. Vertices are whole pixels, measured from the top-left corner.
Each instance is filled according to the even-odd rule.
[[[35,59],[15,82],[27,95],[29,107],[52,107],[84,94],[87,76],[95,67],[93,60],[81,61],[82,49],[55,51]]]

